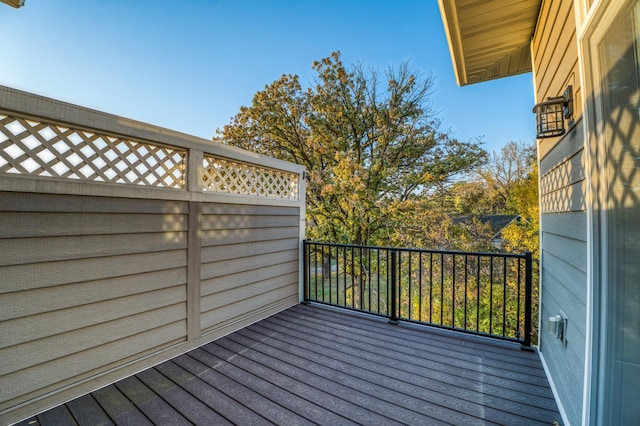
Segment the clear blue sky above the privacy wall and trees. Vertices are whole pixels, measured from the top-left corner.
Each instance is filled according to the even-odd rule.
[[[203,138],[282,74],[332,51],[409,61],[458,139],[535,138],[531,74],[458,87],[436,0],[26,0],[0,4],[0,84]]]

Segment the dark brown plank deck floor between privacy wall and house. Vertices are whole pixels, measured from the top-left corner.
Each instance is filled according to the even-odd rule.
[[[20,424],[554,421],[535,352],[299,305]]]

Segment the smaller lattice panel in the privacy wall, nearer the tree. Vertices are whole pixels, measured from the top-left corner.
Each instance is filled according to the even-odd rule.
[[[298,175],[205,156],[204,190],[269,198],[298,198]]]

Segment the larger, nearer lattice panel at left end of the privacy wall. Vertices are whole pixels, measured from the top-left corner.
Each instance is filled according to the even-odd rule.
[[[184,188],[186,151],[0,114],[0,173]]]

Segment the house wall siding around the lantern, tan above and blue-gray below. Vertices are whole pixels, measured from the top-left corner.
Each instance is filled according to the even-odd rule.
[[[544,1],[532,41],[536,102],[573,86],[574,117],[561,138],[538,141],[540,161],[540,351],[571,424],[582,418],[587,304],[585,135],[573,2]],[[549,317],[568,318],[565,341]]]

